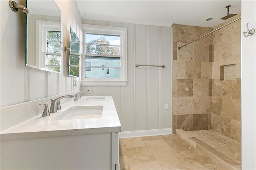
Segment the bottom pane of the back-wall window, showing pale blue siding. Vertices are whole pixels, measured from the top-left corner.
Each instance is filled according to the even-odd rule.
[[[85,70],[86,78],[114,78],[120,79],[120,69],[105,69],[90,67],[91,71]]]

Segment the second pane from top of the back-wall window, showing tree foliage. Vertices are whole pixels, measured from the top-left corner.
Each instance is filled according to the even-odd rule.
[[[120,55],[119,46],[86,45],[87,54]]]

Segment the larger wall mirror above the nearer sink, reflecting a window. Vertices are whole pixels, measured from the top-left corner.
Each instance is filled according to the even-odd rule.
[[[26,7],[26,66],[60,73],[60,9],[54,0],[26,0]]]

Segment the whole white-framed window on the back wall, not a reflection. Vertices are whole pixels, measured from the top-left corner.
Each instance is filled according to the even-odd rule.
[[[83,24],[82,85],[127,83],[127,28]]]

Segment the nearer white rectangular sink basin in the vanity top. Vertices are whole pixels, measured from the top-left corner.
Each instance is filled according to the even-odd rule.
[[[95,119],[102,116],[103,106],[74,106],[54,117],[54,120]]]

